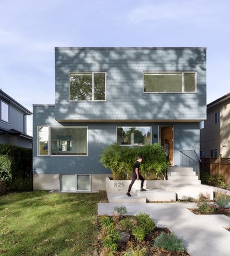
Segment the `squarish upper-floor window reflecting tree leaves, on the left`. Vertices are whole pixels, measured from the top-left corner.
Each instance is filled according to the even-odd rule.
[[[105,72],[69,72],[70,101],[105,101]]]

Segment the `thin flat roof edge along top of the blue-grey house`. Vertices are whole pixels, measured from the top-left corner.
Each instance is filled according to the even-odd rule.
[[[55,50],[206,50],[207,47],[55,47]]]

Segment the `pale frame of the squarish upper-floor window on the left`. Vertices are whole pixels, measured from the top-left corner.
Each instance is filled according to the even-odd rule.
[[[71,74],[91,74],[92,76],[92,99],[89,101],[71,100],[71,87],[69,84],[69,102],[105,102],[107,101],[107,72],[106,71],[69,71],[69,81]],[[94,99],[94,74],[105,74],[105,99]]]

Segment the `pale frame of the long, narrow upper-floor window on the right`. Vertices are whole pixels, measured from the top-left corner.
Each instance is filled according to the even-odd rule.
[[[155,75],[162,75],[162,74],[182,74],[182,91],[145,91],[144,88],[144,76],[145,74],[155,74]],[[195,90],[194,91],[185,91],[185,74],[194,74],[195,79]],[[197,93],[197,72],[196,71],[143,71],[143,93]]]

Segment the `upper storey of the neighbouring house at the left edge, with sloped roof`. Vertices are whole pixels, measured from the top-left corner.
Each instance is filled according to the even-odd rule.
[[[33,114],[12,97],[0,90],[0,134],[26,136],[26,117]],[[28,138],[31,136],[28,136]]]

